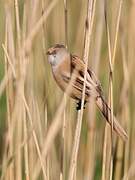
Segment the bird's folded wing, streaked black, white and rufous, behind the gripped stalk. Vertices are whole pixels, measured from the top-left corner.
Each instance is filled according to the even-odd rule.
[[[76,69],[79,73],[79,79],[84,82],[84,73],[85,73],[85,62],[82,61],[78,56],[72,55],[71,58],[71,67]],[[89,86],[90,89],[94,89],[98,92],[99,95],[103,94],[101,84],[97,79],[96,75],[90,69],[87,69],[86,74],[86,86]]]

